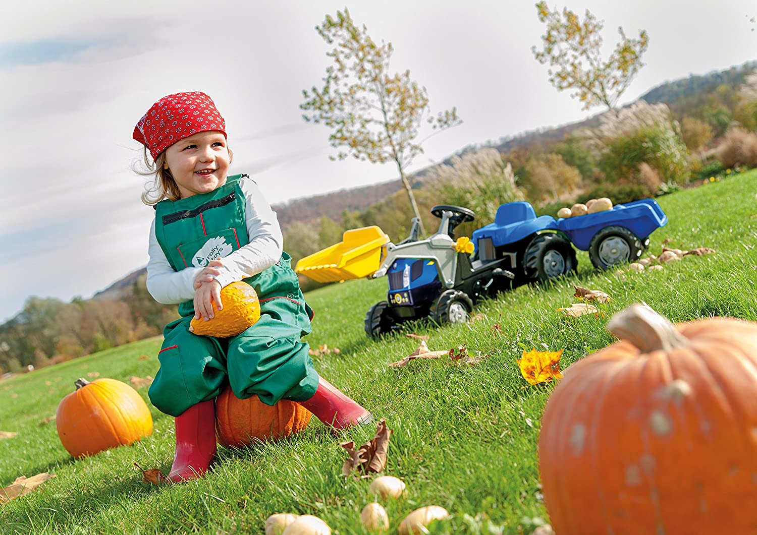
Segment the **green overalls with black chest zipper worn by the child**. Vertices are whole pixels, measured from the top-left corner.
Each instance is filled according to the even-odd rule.
[[[210,193],[155,206],[155,235],[173,269],[207,266],[249,243],[242,176],[229,176]],[[289,255],[283,253],[276,265],[244,279],[257,292],[260,320],[237,336],[192,334],[194,303],[179,305],[182,317],[164,328],[160,369],[149,390],[157,409],[178,416],[220,394],[227,378],[236,397],[257,394],[268,405],[282,398],[313,397],[318,374],[308,344],[300,341],[311,331],[313,311],[289,263]]]

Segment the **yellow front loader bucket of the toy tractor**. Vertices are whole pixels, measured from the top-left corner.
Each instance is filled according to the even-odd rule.
[[[367,277],[381,266],[382,247],[388,243],[388,235],[375,225],[348,230],[338,244],[300,260],[294,272],[319,282]]]

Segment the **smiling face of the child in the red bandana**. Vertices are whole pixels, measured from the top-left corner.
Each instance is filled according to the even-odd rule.
[[[226,182],[229,148],[221,132],[198,132],[166,149],[166,163],[182,199],[208,193]]]

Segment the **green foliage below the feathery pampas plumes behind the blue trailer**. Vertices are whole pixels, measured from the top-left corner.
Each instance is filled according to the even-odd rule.
[[[648,126],[626,137],[613,139],[600,159],[600,170],[610,182],[637,176],[639,165],[648,163],[662,182],[687,179],[689,151],[672,128]]]

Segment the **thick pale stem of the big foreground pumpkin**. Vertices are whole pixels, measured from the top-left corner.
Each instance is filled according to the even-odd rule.
[[[634,304],[612,316],[607,330],[621,340],[634,344],[642,353],[685,347],[689,341],[665,316],[646,303]]]

